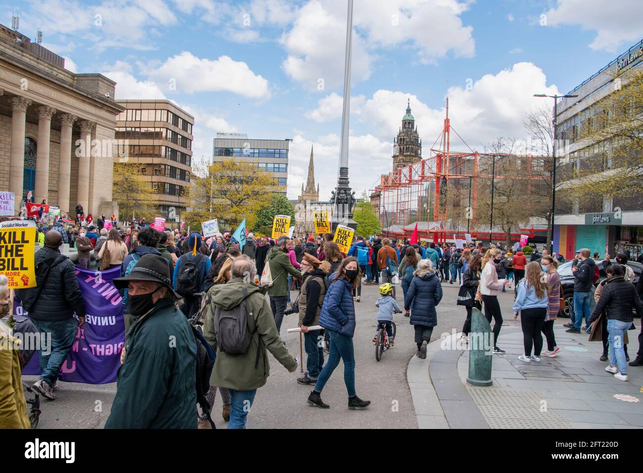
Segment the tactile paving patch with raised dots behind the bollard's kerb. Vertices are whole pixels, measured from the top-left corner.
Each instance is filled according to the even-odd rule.
[[[532,391],[470,387],[471,398],[491,429],[571,429]]]

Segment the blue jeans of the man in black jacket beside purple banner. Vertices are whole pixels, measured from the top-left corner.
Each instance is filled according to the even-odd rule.
[[[41,349],[38,350],[41,366],[41,380],[48,385],[58,380],[60,367],[65,362],[69,350],[73,345],[76,333],[78,332],[78,320],[71,317],[67,320],[57,322],[46,322],[44,320],[32,319],[33,325],[41,333],[41,340],[48,340],[50,346],[44,347],[41,342]],[[45,338],[46,337],[46,338]],[[42,348],[47,348],[42,350]],[[48,353],[48,354],[47,354]]]

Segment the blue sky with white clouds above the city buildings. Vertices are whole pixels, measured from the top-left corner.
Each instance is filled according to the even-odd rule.
[[[0,22],[118,82],[116,98],[168,98],[195,116],[193,151],[217,131],[292,138],[289,198],[311,145],[321,198],[336,183],[345,0],[0,0]],[[424,157],[442,129],[474,149],[523,138],[523,117],[643,39],[640,0],[355,0],[350,180],[392,168],[410,97]],[[452,141],[452,149],[464,145]],[[464,150],[463,150],[464,151]]]

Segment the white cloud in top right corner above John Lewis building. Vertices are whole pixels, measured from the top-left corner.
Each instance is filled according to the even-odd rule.
[[[557,0],[557,5],[545,15],[548,26],[578,24],[586,30],[595,30],[597,34],[590,48],[617,53],[624,42],[640,40],[643,2],[620,0],[615,5],[606,5],[604,0]]]

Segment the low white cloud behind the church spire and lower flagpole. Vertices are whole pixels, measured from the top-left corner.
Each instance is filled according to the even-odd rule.
[[[296,199],[302,191],[302,183],[308,174],[311,145],[314,145],[315,180],[320,184],[320,199],[330,199],[331,191],[337,185],[340,137],[330,134],[309,140],[297,134],[289,147],[289,199]],[[349,180],[356,196],[363,190],[369,190],[379,174],[391,170],[391,150],[391,143],[381,142],[371,134],[350,136]],[[368,163],[368,172],[363,172],[364,163]]]

